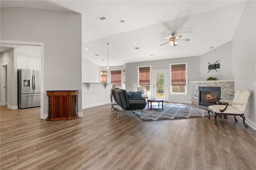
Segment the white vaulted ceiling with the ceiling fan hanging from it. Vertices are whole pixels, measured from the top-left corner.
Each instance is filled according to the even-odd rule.
[[[244,0],[1,0],[0,3],[1,8],[28,7],[82,14],[82,57],[100,66],[102,59],[106,65],[107,43],[109,66],[202,55],[210,47],[232,40],[246,5]],[[106,20],[97,20],[100,16]],[[166,42],[161,39],[169,39],[172,33],[190,41],[180,41],[174,48],[168,43],[160,46]]]

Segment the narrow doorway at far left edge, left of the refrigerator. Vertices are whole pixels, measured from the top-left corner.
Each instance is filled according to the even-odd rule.
[[[8,63],[1,64],[1,106],[8,103]]]

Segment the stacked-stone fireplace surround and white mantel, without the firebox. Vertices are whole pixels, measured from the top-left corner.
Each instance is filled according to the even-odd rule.
[[[214,80],[214,81],[190,81],[191,83],[191,102],[198,105],[199,87],[220,87],[222,100],[234,99],[234,80]]]

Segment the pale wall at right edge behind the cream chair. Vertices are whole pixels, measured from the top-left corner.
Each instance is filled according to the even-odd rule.
[[[251,95],[246,110],[246,123],[256,129],[255,87],[256,81],[256,12],[255,1],[248,1],[232,39],[232,67],[235,78],[235,91],[250,90]]]

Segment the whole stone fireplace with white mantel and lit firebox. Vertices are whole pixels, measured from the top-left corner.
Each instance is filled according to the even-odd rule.
[[[200,100],[204,100],[203,103],[207,103],[204,106],[214,105],[216,99],[212,99],[214,97],[219,98],[218,96],[212,97],[212,95],[217,95],[216,93],[210,93],[211,96],[208,95],[209,90],[205,90],[202,87],[218,87],[220,88],[220,99],[222,100],[233,100],[234,99],[234,80],[216,80],[216,81],[190,81],[191,83],[191,99],[192,104],[201,105]],[[200,90],[203,89],[200,97]],[[213,90],[216,92],[216,89]],[[208,97],[207,97],[208,96]],[[206,101],[208,100],[208,101]],[[217,99],[218,100],[218,99]],[[206,102],[205,102],[206,101]]]

